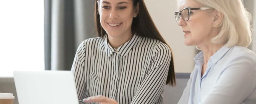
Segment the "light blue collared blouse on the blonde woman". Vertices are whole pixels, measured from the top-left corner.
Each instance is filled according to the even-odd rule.
[[[222,47],[201,77],[203,52],[178,104],[256,104],[256,54],[246,47]]]

